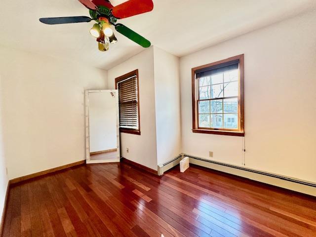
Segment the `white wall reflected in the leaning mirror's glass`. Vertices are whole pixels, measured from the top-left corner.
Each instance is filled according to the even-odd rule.
[[[89,93],[90,152],[117,148],[117,110],[110,92]]]

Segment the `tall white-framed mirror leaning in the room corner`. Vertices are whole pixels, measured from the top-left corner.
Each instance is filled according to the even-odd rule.
[[[86,162],[119,162],[118,90],[85,91]]]

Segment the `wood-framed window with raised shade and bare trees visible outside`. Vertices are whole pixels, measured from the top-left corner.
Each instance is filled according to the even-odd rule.
[[[193,132],[244,136],[243,54],[192,69]]]

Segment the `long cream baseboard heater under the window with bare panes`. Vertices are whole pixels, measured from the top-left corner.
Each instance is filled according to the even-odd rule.
[[[184,157],[190,158],[190,163],[202,167],[219,170],[225,173],[235,174],[244,178],[252,179],[262,183],[271,184],[277,187],[293,190],[300,193],[316,196],[316,183],[299,180],[291,177],[277,175],[260,170],[250,169],[238,165],[223,163],[215,160],[199,158],[187,154]]]

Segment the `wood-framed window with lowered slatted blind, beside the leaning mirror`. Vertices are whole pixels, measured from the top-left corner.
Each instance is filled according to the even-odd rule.
[[[118,89],[119,131],[140,135],[138,70],[115,79]]]

